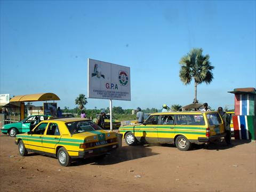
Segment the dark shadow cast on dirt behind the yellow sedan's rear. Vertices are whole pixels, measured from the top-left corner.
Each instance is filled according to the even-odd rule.
[[[158,155],[158,153],[153,153],[152,149],[147,148],[143,145],[139,146],[124,146],[122,148],[118,148],[111,153],[108,153],[105,157],[94,157],[88,159],[79,159],[73,166],[84,165],[84,164],[92,164],[92,165],[112,165],[116,163],[121,163],[125,161],[130,161],[133,159],[149,157],[153,155]]]

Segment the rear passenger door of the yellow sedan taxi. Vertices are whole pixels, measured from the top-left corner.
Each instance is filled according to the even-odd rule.
[[[60,142],[60,129],[57,123],[49,123],[42,138],[46,153],[55,154],[55,146]]]

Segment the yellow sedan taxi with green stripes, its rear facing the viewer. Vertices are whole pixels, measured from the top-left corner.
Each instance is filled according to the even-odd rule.
[[[62,166],[69,166],[72,159],[101,156],[118,147],[117,133],[102,130],[84,118],[42,121],[32,131],[17,134],[15,143],[21,156],[28,152],[50,155]]]

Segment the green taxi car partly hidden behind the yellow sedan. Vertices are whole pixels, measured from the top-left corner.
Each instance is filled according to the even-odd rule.
[[[4,125],[1,131],[3,134],[8,133],[11,137],[15,137],[19,133],[30,131],[31,128],[35,127],[39,122],[46,120],[48,117],[47,115],[31,115],[20,122]]]

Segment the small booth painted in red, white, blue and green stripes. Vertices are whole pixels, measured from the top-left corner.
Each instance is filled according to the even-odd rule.
[[[256,90],[238,88],[229,93],[235,94],[235,115],[233,116],[235,139],[256,138]]]

